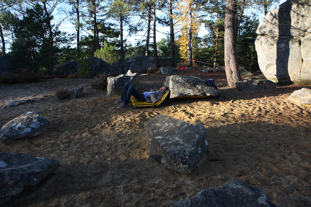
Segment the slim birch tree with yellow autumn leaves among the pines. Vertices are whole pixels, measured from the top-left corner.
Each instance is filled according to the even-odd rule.
[[[175,25],[180,29],[180,35],[176,43],[179,45],[181,58],[190,65],[192,60],[192,40],[201,26],[199,9],[201,4],[196,0],[181,0],[176,5],[178,15],[173,15]]]

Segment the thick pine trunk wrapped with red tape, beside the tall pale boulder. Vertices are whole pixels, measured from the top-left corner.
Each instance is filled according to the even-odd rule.
[[[238,70],[236,53],[235,17],[237,14],[237,0],[227,0],[225,11],[225,70],[229,87],[235,87],[235,82],[241,81]]]

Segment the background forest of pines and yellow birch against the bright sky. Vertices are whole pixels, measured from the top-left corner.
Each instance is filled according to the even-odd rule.
[[[230,1],[236,5],[239,66],[259,70],[254,44],[257,15],[267,14],[279,0],[227,3]],[[194,59],[213,64],[211,67],[225,65],[225,4],[221,0],[0,0],[1,55],[12,61],[12,70],[27,68],[42,74],[55,73],[60,64],[91,56],[110,64],[146,55],[184,62]],[[56,11],[63,14],[57,21]],[[61,30],[65,20],[70,20],[75,33]],[[208,32],[198,37],[202,24]],[[161,25],[169,26],[170,31],[167,38],[156,42],[155,31]],[[123,39],[124,30],[129,36],[144,35],[133,45]]]

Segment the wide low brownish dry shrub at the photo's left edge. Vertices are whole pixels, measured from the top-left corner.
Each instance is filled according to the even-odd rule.
[[[0,83],[2,84],[33,83],[39,81],[39,75],[33,70],[26,68],[17,69],[14,73],[5,73],[0,75]]]

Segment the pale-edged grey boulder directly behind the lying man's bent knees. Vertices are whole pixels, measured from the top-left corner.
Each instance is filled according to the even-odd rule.
[[[139,88],[139,76],[138,73],[132,73],[128,70],[125,75],[119,75],[118,77],[107,78],[107,92],[108,95],[121,94],[125,83],[130,83],[135,88]]]

